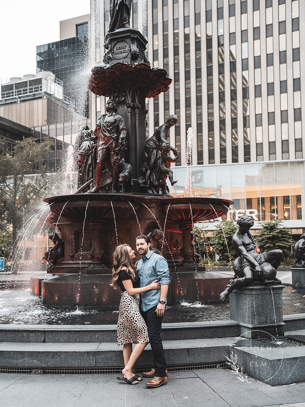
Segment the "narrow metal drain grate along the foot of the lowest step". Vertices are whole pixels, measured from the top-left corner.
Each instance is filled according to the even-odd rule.
[[[168,372],[186,372],[187,370],[228,368],[227,362],[188,363],[168,365]],[[1,368],[0,373],[24,374],[121,374],[123,367],[106,368]],[[148,372],[151,366],[135,366],[135,373]]]

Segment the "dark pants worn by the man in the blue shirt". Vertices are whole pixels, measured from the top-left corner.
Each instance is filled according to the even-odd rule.
[[[141,314],[143,315],[143,318],[147,325],[149,343],[154,354],[155,376],[165,377],[166,361],[161,339],[161,326],[163,316],[158,317],[156,308],[157,307],[155,305],[147,311],[141,311]]]

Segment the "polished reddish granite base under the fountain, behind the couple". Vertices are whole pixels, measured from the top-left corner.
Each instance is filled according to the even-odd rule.
[[[202,267],[204,268],[204,267]],[[181,267],[188,269],[188,267]],[[171,284],[167,295],[167,304],[179,304],[182,301],[215,301],[228,283],[226,274],[200,271],[177,271],[170,269]],[[110,274],[93,275],[53,275],[33,279],[31,292],[42,296],[42,303],[51,307],[95,307],[99,309],[117,309],[121,300],[121,291],[110,286]],[[40,284],[40,289],[37,284]]]

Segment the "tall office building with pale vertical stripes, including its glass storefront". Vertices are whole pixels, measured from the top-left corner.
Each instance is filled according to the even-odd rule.
[[[95,64],[109,24],[102,3],[91,1]],[[142,4],[133,1],[134,28]],[[147,2],[140,26],[148,59],[173,79],[169,91],[148,100],[149,134],[169,114],[178,116],[171,195],[184,195],[192,127],[192,195],[232,199],[230,219],[252,214],[255,228],[284,219],[293,236],[305,232],[304,9],[305,0]],[[92,95],[92,118],[104,108],[104,98]]]

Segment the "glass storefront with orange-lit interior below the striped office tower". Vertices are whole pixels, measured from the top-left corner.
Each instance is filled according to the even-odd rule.
[[[305,228],[305,160],[192,166],[191,186],[186,167],[172,169],[178,179],[173,196],[189,188],[192,196],[234,201],[232,219],[246,213],[255,221],[283,219],[288,227]]]

